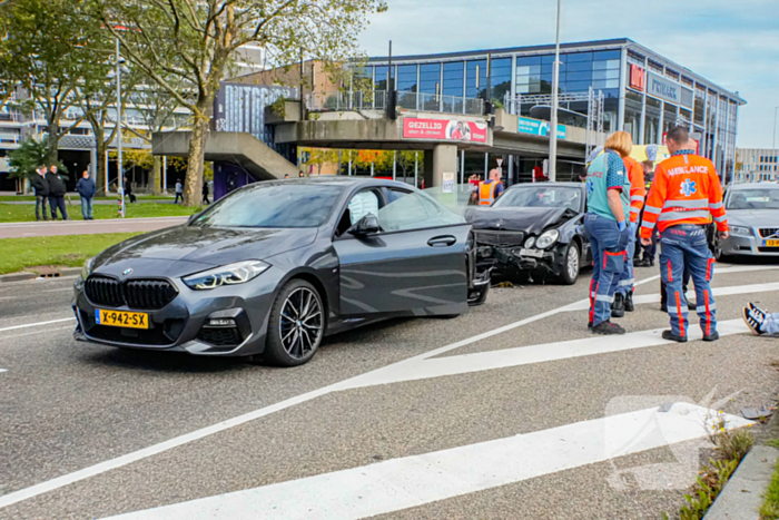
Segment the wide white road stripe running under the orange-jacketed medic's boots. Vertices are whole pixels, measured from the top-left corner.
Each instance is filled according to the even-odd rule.
[[[629,351],[673,343],[661,337],[662,331],[663,328],[655,328],[652,331],[633,332],[621,336],[591,335],[583,340],[517,346],[447,357],[432,357],[423,361],[417,360],[413,363],[401,362],[345,381],[339,385],[338,390],[442,377],[445,375],[465,374],[485,370],[507,369],[510,366],[545,363],[549,361],[607,354],[610,352]],[[749,328],[741,320],[729,320],[718,323],[717,331],[720,336],[723,337],[730,334],[749,332]],[[699,330],[693,330],[688,337],[690,340],[700,340],[701,332]]]

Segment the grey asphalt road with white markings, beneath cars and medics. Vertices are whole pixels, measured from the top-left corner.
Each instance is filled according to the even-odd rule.
[[[0,285],[0,519],[673,518],[706,415],[741,425],[779,389],[776,340],[740,321],[779,311],[779,264],[717,269],[716,343],[663,342],[639,269],[619,340],[588,333],[584,276],[287,370],[77,344],[72,279]]]

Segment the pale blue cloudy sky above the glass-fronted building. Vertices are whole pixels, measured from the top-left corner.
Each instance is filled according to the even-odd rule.
[[[387,0],[369,56],[554,43],[554,0]],[[779,105],[779,0],[562,0],[561,42],[630,38],[731,91],[737,146],[770,148]],[[779,146],[779,145],[778,145]]]

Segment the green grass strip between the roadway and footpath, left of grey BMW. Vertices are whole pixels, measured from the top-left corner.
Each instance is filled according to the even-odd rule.
[[[0,274],[37,265],[80,267],[90,256],[140,233],[0,239]]]

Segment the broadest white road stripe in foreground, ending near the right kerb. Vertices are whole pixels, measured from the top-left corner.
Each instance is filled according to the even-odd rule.
[[[334,519],[389,513],[706,435],[717,412],[689,403],[393,459],[112,520]],[[728,428],[751,421],[724,415]]]

